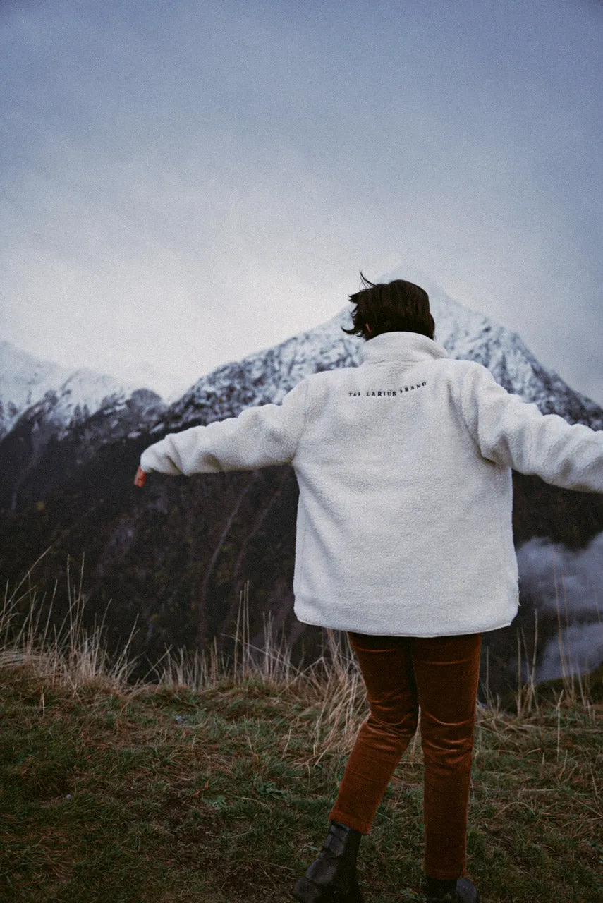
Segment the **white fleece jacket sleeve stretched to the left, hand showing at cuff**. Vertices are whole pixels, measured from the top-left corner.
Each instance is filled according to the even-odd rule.
[[[169,433],[144,450],[145,473],[216,473],[254,470],[292,461],[305,421],[308,384],[302,380],[281,405],[247,407],[237,417]]]

